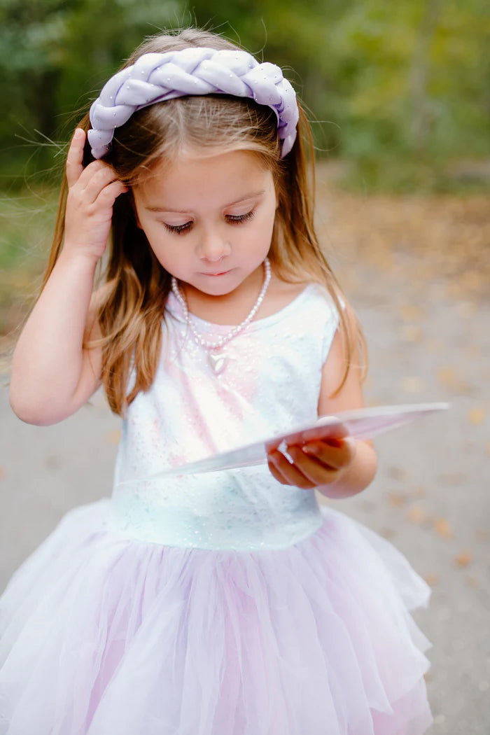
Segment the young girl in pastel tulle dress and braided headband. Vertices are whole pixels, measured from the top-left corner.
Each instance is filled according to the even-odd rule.
[[[143,479],[363,406],[307,134],[278,67],[195,30],[144,43],[76,129],[11,403],[55,423],[103,384],[123,436],[112,498],[68,513],[1,598],[1,735],[430,725],[408,614],[427,587],[314,493],[364,490],[370,442]]]

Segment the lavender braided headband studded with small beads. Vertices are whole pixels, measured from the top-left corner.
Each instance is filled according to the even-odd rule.
[[[298,104],[295,90],[275,64],[259,62],[247,51],[190,48],[144,54],[109,79],[90,108],[88,140],[94,158],[102,158],[116,128],[133,112],[187,95],[228,94],[248,97],[275,110],[281,157],[296,139]]]

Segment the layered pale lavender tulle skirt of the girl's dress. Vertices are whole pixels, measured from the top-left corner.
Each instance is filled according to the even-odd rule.
[[[419,735],[428,587],[325,507],[275,551],[123,539],[69,512],[0,598],[1,735]]]

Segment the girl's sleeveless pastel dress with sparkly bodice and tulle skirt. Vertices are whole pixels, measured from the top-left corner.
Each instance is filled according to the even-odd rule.
[[[170,294],[112,497],[69,512],[0,599],[1,735],[426,731],[408,610],[428,587],[389,542],[267,465],[141,479],[314,420],[337,323],[311,284],[216,376]]]

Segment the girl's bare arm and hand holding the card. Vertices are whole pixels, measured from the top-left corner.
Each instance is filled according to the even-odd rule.
[[[342,337],[336,332],[328,359],[323,366],[319,415],[336,415],[340,411],[364,407],[361,387],[361,367],[355,352],[347,380],[342,381],[345,354]],[[334,395],[335,394],[335,395]],[[328,498],[347,498],[367,487],[375,476],[377,462],[372,442],[354,441],[348,437],[309,442],[303,447],[289,447],[294,460],[290,464],[278,451],[269,455],[273,476],[282,484],[319,490]]]

